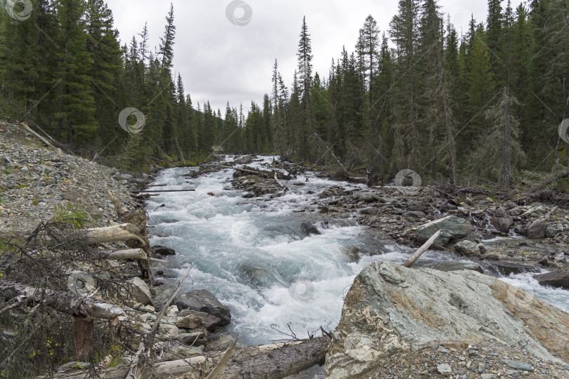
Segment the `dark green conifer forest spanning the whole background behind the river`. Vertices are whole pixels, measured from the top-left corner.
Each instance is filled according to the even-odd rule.
[[[101,156],[140,168],[199,161],[222,146],[306,163],[337,159],[386,180],[410,168],[423,178],[504,187],[518,173],[568,163],[558,135],[569,117],[565,0],[516,9],[488,0],[488,18],[472,18],[464,35],[436,0],[400,0],[388,29],[369,15],[353,51],[344,47],[320,74],[305,18],[293,83],[287,87],[275,60],[270,91],[247,115],[185,95],[173,76],[174,8],[151,51],[145,26],[119,45],[103,0],[32,4],[25,21],[0,12],[0,111],[86,154],[104,149]],[[126,107],[145,114],[141,133],[118,126]]]

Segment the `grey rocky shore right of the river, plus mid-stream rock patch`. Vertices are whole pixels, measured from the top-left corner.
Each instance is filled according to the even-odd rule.
[[[235,163],[248,164],[252,160],[244,157]],[[301,178],[306,170],[279,161],[265,170],[273,169],[284,171],[289,178]],[[292,185],[287,187],[286,180],[254,175],[250,168],[249,172],[235,171],[234,178],[233,187],[244,191],[242,196],[247,199],[267,194],[280,197],[294,189]],[[355,219],[398,244],[413,247],[419,247],[443,222],[443,229],[450,234],[440,237],[433,248],[473,258],[488,270],[505,275],[542,268],[568,270],[568,208],[532,201],[524,194],[492,199],[487,192],[490,190],[450,185],[351,190],[339,186],[320,193],[321,201],[313,208],[299,211],[320,213],[323,220]],[[462,232],[464,225],[468,225],[466,232]],[[506,238],[493,241],[495,237]]]

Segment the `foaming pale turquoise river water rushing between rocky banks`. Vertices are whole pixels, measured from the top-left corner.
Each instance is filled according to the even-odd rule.
[[[263,162],[273,161],[273,157],[261,158],[249,166],[261,168]],[[365,185],[307,173],[283,180],[290,191],[282,197],[244,199],[243,192],[231,185],[234,169],[223,168],[198,178],[184,177],[188,171],[164,170],[156,183],[167,184],[164,189],[195,191],[162,192],[148,200],[146,207],[149,225],[155,226],[152,244],[178,252],[169,258],[174,268],[164,269],[166,279],[158,279],[175,286],[191,262],[191,280],[188,278],[183,292],[207,289],[228,305],[232,321],[224,333],[238,336],[242,345],[284,338],[275,328],[287,330],[289,323],[299,338],[306,338],[307,331],[320,326],[333,330],[356,274],[377,260],[403,264],[415,251],[349,218],[334,220],[312,212],[325,189]],[[310,234],[306,225],[315,225],[320,234]],[[351,256],[355,248],[360,250],[358,262]],[[469,262],[452,253],[427,251],[413,267],[457,260]],[[531,276],[501,279],[568,310],[569,291],[539,286]]]

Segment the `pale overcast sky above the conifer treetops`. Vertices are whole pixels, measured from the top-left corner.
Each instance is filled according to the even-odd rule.
[[[367,15],[377,20],[380,32],[387,33],[389,21],[397,13],[398,0],[173,0],[176,44],[174,70],[181,73],[185,92],[194,107],[209,100],[214,109],[225,104],[249,109],[251,100],[261,104],[270,93],[275,58],[287,87],[291,87],[296,67],[296,50],[303,16],[312,39],[313,66],[327,77],[332,58],[342,46],[354,50],[360,27]],[[522,1],[512,0],[515,9]],[[165,17],[171,1],[108,0],[120,33],[121,43],[129,43],[148,21],[150,46],[157,48],[164,34]],[[486,0],[439,0],[443,13],[466,31],[473,14],[477,22],[486,20]],[[233,4],[234,12],[228,12]],[[503,6],[506,2],[504,1]],[[232,23],[228,18],[233,20]],[[235,25],[244,24],[244,25]]]

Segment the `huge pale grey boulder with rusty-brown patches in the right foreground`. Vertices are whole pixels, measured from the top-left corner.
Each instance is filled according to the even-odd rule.
[[[500,340],[566,364],[568,339],[568,313],[504,281],[475,271],[374,262],[346,295],[325,376],[375,377],[407,352],[456,341]]]

